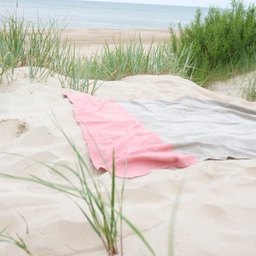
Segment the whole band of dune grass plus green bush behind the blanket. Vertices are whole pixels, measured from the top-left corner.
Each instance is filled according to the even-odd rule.
[[[178,33],[174,30],[178,29]],[[11,81],[15,67],[28,67],[30,79],[58,74],[63,87],[93,93],[96,80],[137,74],[172,73],[207,86],[216,79],[247,73],[256,67],[256,7],[231,1],[231,9],[198,9],[189,25],[170,26],[170,40],[145,48],[139,40],[96,55],[79,55],[63,39],[57,22],[25,22],[17,15],[0,17],[0,82]]]

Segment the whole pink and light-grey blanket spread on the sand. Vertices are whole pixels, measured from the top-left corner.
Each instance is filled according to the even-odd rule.
[[[66,93],[96,169],[138,177],[197,160],[256,157],[256,111],[183,97],[106,101]]]

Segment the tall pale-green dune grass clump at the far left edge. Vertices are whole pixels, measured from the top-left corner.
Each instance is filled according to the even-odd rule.
[[[3,76],[12,81],[16,67],[28,67],[31,80],[49,73],[55,53],[66,46],[61,46],[60,33],[55,21],[43,26],[38,18],[35,26],[24,17],[0,16],[0,82]]]

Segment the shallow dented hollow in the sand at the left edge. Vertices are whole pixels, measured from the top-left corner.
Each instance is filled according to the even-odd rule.
[[[12,143],[28,130],[28,125],[20,119],[0,119],[0,144]]]

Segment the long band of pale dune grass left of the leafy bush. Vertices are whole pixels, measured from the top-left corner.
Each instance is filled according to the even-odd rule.
[[[137,74],[175,73],[187,77],[193,66],[190,51],[177,55],[170,42],[143,46],[142,41],[106,43],[96,55],[80,55],[75,44],[68,44],[56,20],[43,24],[26,22],[17,15],[0,16],[0,83],[12,81],[16,67],[28,67],[29,78],[47,79],[57,75],[63,87],[93,94],[96,81],[122,79]]]

